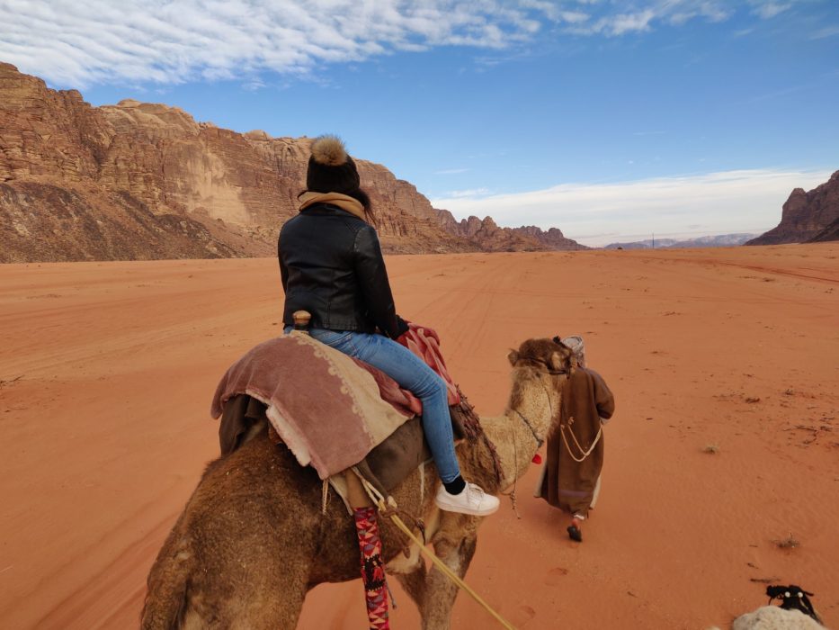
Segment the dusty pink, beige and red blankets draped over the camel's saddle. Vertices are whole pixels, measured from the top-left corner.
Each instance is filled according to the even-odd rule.
[[[450,403],[460,403],[436,333],[410,327],[400,342],[442,375]],[[387,374],[300,332],[265,341],[231,365],[213,397],[212,417],[241,394],[263,403],[281,441],[322,480],[360,463],[406,419],[422,414],[422,403]]]

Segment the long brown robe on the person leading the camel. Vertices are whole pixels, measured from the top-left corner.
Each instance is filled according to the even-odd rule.
[[[548,437],[538,496],[555,508],[588,515],[603,466],[603,437],[601,434],[597,439],[597,435],[602,430],[602,419],[610,419],[614,410],[614,397],[602,376],[594,370],[576,368],[562,391],[559,425]],[[586,456],[595,439],[597,444]],[[575,458],[583,461],[576,462]]]

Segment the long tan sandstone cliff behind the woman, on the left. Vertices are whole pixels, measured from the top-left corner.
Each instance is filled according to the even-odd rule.
[[[310,143],[163,104],[93,107],[0,63],[0,262],[273,256]],[[356,163],[386,251],[534,248],[494,224],[447,230],[415,186]]]

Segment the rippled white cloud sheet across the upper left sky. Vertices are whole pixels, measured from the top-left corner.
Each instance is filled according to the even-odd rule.
[[[501,49],[549,7],[504,0],[0,0],[0,59],[56,85],[299,74],[394,50]]]

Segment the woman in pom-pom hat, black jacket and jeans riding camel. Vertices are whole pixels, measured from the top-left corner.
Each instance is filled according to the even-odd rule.
[[[294,311],[309,311],[313,338],[379,368],[414,392],[423,402],[425,439],[442,480],[437,506],[474,516],[492,514],[498,499],[460,476],[446,383],[395,341],[408,326],[394,307],[370,197],[340,139],[321,136],[312,142],[306,188],[299,194],[298,216],[280,232],[283,322],[289,327]]]

